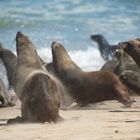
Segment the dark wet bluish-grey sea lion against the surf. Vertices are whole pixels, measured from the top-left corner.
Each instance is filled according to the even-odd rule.
[[[91,35],[90,37],[93,41],[98,43],[100,54],[105,61],[114,57],[114,53],[118,48],[118,45],[110,45],[105,37],[100,34]]]

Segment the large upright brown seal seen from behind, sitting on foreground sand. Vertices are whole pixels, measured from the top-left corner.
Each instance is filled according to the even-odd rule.
[[[21,100],[21,117],[7,123],[61,121],[57,81],[42,67],[34,44],[21,32],[16,35],[16,50],[15,91]]]

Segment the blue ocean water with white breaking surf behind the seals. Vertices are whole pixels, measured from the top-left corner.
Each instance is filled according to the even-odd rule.
[[[17,31],[46,62],[57,41],[83,70],[99,70],[104,60],[90,35],[110,44],[140,37],[140,0],[0,0],[0,42],[13,52]]]

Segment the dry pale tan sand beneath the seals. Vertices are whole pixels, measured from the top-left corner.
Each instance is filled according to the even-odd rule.
[[[140,140],[140,98],[136,108],[117,101],[92,107],[60,110],[66,121],[58,124],[0,126],[0,140]],[[20,115],[20,103],[0,108],[0,123]]]

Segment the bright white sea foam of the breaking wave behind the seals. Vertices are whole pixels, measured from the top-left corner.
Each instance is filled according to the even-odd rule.
[[[104,64],[104,60],[96,48],[89,47],[87,50],[70,50],[68,53],[71,59],[85,71],[99,70]],[[38,49],[38,54],[47,63],[52,61],[50,48],[40,48]]]

